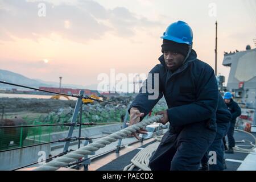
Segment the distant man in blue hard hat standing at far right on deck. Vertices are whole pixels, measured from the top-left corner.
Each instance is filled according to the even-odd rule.
[[[236,119],[238,116],[241,115],[241,108],[240,106],[238,106],[237,102],[235,102],[232,99],[232,94],[230,92],[225,92],[224,94],[224,101],[226,103],[226,106],[228,106],[228,109],[230,111],[230,113],[232,114],[232,120],[230,122],[230,127],[228,130],[228,141],[229,141],[229,148],[227,151],[225,151],[225,153],[227,154],[234,154],[234,150],[233,147],[236,145],[236,142],[234,140],[234,127],[236,126]],[[225,140],[225,138],[224,138]],[[226,143],[224,141],[224,143]]]

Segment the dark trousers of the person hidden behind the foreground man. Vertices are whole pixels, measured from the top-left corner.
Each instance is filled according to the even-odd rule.
[[[210,171],[222,171],[224,170],[223,160],[224,160],[224,143],[223,138],[229,130],[230,123],[217,123],[217,133],[216,137],[213,140],[213,143],[208,148],[207,153],[205,153],[203,159],[201,160],[202,164],[207,164],[209,159],[209,152],[216,152],[216,164],[209,164]]]

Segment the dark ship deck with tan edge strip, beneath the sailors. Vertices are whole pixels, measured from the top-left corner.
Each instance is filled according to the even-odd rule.
[[[256,133],[251,133],[256,137]],[[236,146],[241,146],[241,148],[249,149],[251,147],[244,147],[249,145],[251,141],[253,144],[254,138],[248,134],[241,133],[240,131],[235,131],[234,138],[236,139]],[[245,140],[245,142],[240,142]],[[249,141],[247,141],[249,140]],[[126,146],[120,151],[120,154],[115,154],[114,152],[104,157],[94,160],[89,166],[89,170],[97,171],[122,171],[125,166],[130,164],[131,159],[143,148],[151,143],[154,143],[153,139],[145,140],[143,143],[139,142],[134,146]],[[234,151],[234,154],[224,154],[225,162],[227,168],[225,171],[250,171],[256,170],[256,151],[249,153],[241,153]],[[135,168],[134,170],[138,170]]]

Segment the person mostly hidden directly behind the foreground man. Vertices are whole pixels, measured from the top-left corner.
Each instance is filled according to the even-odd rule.
[[[226,133],[228,133],[231,119],[232,115],[228,110],[228,107],[226,106],[221,94],[219,94],[218,107],[216,111],[217,133],[213,143],[210,145],[208,151],[201,160],[201,171],[222,171],[226,168],[224,163],[224,144],[222,138],[226,135]],[[214,154],[216,154],[216,156],[214,156]],[[208,160],[209,156],[211,155],[216,157],[216,160],[213,159],[209,165]],[[214,163],[214,160],[216,163]]]

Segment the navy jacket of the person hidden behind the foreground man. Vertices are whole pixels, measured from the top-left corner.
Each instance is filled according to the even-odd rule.
[[[226,106],[221,94],[218,96],[218,107],[216,111],[217,123],[228,123],[232,120],[232,114]]]

